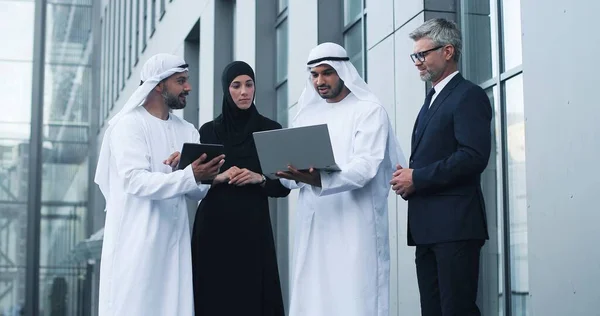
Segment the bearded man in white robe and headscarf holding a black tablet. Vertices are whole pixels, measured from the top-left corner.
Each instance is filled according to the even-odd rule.
[[[174,170],[183,143],[199,142],[196,128],[170,113],[185,107],[187,72],[178,56],[152,56],[104,134],[95,177],[106,199],[100,316],[194,314],[185,196],[202,199],[209,186],[200,181],[224,157]]]

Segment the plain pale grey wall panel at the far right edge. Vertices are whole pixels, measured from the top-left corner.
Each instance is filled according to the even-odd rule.
[[[600,313],[600,2],[521,0],[532,314]]]

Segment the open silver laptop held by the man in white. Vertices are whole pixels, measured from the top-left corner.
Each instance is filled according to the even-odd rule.
[[[311,167],[339,171],[333,157],[327,124],[255,132],[254,143],[263,174],[275,179],[288,165],[298,170]]]

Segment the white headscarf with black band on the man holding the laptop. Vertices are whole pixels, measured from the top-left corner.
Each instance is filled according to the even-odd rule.
[[[296,121],[302,113],[302,110],[307,106],[318,102],[324,102],[323,98],[317,93],[310,75],[311,68],[323,64],[327,64],[335,69],[338,76],[344,81],[344,85],[352,92],[352,94],[354,94],[354,96],[356,96],[356,98],[361,101],[378,104],[385,111],[385,107],[383,107],[379,98],[373,94],[367,83],[360,77],[358,71],[356,71],[356,68],[350,62],[346,50],[335,43],[322,43],[313,48],[308,55],[308,61],[306,63],[308,72],[306,85],[298,99],[298,113],[293,121]],[[406,158],[398,144],[398,140],[396,139],[391,124],[388,131],[388,156],[391,160],[392,168],[392,170],[387,170],[387,172],[390,172],[390,176],[392,175],[391,172],[395,170],[396,164],[400,164],[404,168],[408,167],[406,165]]]

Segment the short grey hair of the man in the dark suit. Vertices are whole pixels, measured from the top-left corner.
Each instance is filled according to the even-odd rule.
[[[462,38],[456,23],[446,19],[431,19],[425,21],[408,35],[413,41],[424,37],[430,38],[436,46],[454,46],[454,61],[458,62],[462,51]]]

